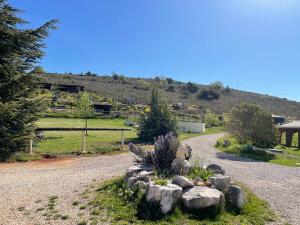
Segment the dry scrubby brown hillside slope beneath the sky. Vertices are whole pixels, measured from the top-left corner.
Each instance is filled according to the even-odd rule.
[[[70,74],[41,74],[42,82],[52,84],[83,85],[87,91],[98,93],[104,97],[111,97],[120,102],[134,102],[147,104],[153,83],[163,93],[169,103],[183,103],[197,105],[213,112],[228,112],[237,103],[254,103],[266,111],[293,118],[300,118],[300,103],[268,95],[250,93],[228,89],[222,92],[217,100],[200,100],[198,93],[208,89],[207,85],[197,84],[198,91],[190,93],[186,90],[186,83],[169,80],[155,80],[112,76],[80,76]]]

